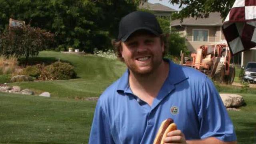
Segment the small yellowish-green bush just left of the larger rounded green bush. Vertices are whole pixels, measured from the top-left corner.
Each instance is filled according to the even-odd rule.
[[[41,68],[42,66],[40,64],[34,66],[26,66],[26,68],[22,70],[22,74],[38,78],[41,75]]]

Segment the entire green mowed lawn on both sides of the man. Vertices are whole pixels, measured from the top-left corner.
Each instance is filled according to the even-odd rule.
[[[58,60],[73,64],[74,80],[22,82],[22,88],[50,92],[51,98],[0,93],[0,144],[86,144],[96,102],[74,100],[99,96],[125,70],[124,64],[96,56],[40,52],[45,63]],[[256,89],[241,93],[236,86],[217,86],[220,92],[238,93],[246,105],[230,111],[239,144],[256,142]]]

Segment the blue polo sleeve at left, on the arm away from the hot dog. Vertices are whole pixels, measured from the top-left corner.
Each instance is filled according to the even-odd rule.
[[[108,118],[102,109],[100,100],[95,108],[89,144],[114,144]]]

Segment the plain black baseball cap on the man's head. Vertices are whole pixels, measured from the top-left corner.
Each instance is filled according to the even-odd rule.
[[[125,42],[127,38],[137,30],[148,30],[152,34],[159,36],[162,29],[154,14],[149,12],[135,11],[122,18],[119,23],[118,41]]]

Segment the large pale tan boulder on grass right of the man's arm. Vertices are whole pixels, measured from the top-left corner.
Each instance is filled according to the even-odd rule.
[[[226,108],[237,108],[244,104],[244,98],[238,94],[220,94]]]

